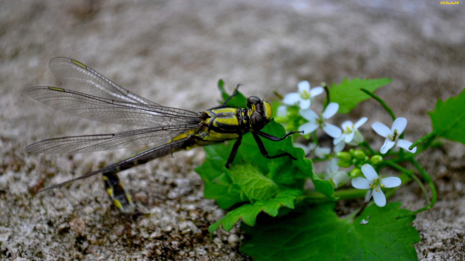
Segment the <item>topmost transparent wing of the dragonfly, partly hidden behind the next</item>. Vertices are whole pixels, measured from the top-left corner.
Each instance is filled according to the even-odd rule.
[[[131,103],[158,105],[113,83],[88,66],[69,58],[56,57],[48,62],[53,75],[71,91],[117,99]]]

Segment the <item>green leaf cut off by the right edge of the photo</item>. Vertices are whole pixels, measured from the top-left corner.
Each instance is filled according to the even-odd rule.
[[[465,144],[465,90],[444,102],[438,99],[428,114],[435,135]]]

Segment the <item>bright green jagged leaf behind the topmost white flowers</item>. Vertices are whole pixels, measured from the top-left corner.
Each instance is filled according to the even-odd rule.
[[[360,79],[353,78],[348,80],[344,78],[339,85],[331,84],[330,101],[339,104],[339,113],[349,113],[357,107],[357,104],[370,98],[368,94],[360,91],[360,88],[365,88],[368,91],[376,89],[391,83],[390,78],[379,79]]]

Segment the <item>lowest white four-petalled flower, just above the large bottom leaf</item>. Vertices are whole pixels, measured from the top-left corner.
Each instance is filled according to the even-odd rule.
[[[385,177],[380,178],[373,169],[372,165],[365,164],[361,168],[363,177],[356,177],[352,179],[352,187],[356,189],[369,189],[366,192],[365,202],[368,202],[373,196],[373,200],[378,207],[386,205],[386,196],[384,196],[381,188],[394,188],[399,186],[402,181],[398,177]]]

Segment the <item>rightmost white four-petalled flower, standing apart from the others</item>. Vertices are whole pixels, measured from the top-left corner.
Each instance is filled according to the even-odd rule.
[[[385,124],[380,122],[375,122],[372,124],[372,128],[376,133],[386,138],[383,146],[381,147],[381,154],[385,154],[388,150],[390,150],[394,145],[415,153],[417,151],[417,147],[409,150],[408,147],[412,145],[411,142],[399,139],[400,134],[404,132],[405,127],[407,126],[407,119],[406,118],[397,118],[393,123],[391,129],[387,127]]]

